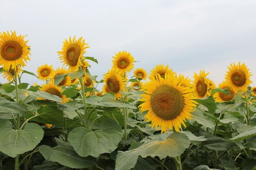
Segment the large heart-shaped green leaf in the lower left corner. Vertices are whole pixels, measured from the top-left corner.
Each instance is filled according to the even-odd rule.
[[[10,121],[2,119],[0,129],[0,151],[10,157],[32,150],[44,135],[36,123],[26,124],[24,130],[14,130]]]

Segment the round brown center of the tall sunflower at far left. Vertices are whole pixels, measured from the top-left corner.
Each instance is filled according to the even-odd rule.
[[[22,56],[22,47],[15,41],[7,41],[1,48],[1,56],[8,61],[14,61]]]

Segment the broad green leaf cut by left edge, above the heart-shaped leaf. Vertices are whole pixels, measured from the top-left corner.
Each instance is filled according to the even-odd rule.
[[[26,114],[27,111],[21,104],[0,97],[0,112]]]

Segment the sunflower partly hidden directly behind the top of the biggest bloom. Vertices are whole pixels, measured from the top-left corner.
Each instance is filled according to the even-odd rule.
[[[156,74],[160,74],[162,78],[165,78],[165,74],[174,75],[173,69],[169,69],[169,66],[165,66],[163,64],[156,65],[155,68],[150,70],[150,76],[148,79],[154,80],[156,79]]]

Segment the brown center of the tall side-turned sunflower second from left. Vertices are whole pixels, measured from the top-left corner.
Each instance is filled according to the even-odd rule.
[[[76,66],[80,57],[81,48],[78,45],[74,45],[67,50],[67,62],[70,66]]]

